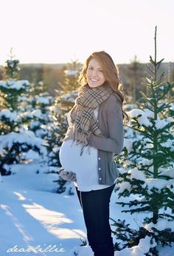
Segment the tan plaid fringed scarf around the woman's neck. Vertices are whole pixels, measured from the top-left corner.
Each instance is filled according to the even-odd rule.
[[[113,90],[105,84],[96,88],[91,88],[88,84],[82,87],[70,112],[73,126],[68,129],[63,141],[71,138],[73,133],[73,141],[87,146],[91,132],[103,136],[94,116],[94,110],[109,97],[111,92]]]

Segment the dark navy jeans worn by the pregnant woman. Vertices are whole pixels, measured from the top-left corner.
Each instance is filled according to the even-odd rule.
[[[114,256],[114,245],[109,224],[109,203],[114,186],[106,189],[80,192],[77,195],[83,208],[88,244],[94,256]]]

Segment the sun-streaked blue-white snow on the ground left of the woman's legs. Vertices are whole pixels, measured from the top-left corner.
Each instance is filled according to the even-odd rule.
[[[44,166],[33,163],[16,164],[11,170],[16,174],[3,176],[1,185],[1,256],[13,255],[5,252],[15,245],[24,249],[27,246],[41,245],[44,249],[57,245],[58,249],[66,247],[67,252],[80,244],[80,238],[86,239],[77,198],[74,200],[72,196],[53,193],[56,189],[53,180],[58,175],[47,175]],[[36,174],[37,170],[39,174]],[[81,222],[75,222],[76,219],[81,219]],[[49,252],[48,255],[58,253]]]

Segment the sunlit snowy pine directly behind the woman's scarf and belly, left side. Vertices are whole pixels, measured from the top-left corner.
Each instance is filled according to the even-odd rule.
[[[77,98],[78,74],[80,65],[72,61],[71,70],[66,70],[64,82],[61,84],[62,90],[56,90],[54,105],[50,108],[52,111],[52,124],[49,126],[49,133],[46,138],[47,149],[49,152],[49,165],[52,166],[53,172],[58,173],[57,166],[60,166],[59,150],[68,128],[67,113],[72,109],[74,100]],[[54,168],[55,167],[55,168]],[[66,181],[58,178],[57,192],[61,193],[66,190]]]

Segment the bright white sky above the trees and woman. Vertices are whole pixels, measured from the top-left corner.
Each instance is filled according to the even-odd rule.
[[[13,47],[21,63],[84,61],[105,50],[117,64],[134,55],[174,61],[173,0],[0,0],[0,64]]]

